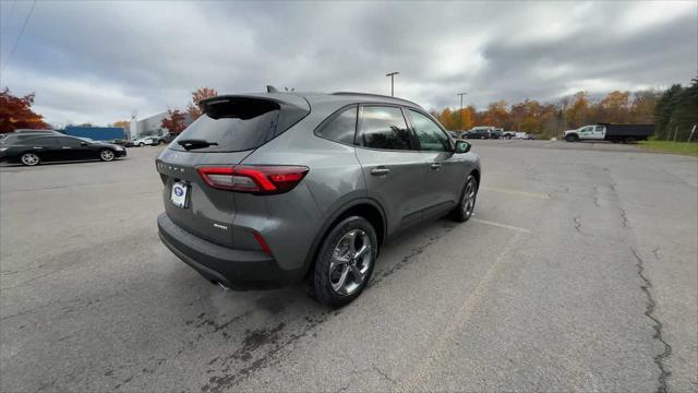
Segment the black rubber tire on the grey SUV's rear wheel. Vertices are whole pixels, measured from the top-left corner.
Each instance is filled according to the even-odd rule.
[[[369,262],[365,267],[368,270],[363,273],[360,284],[358,284],[353,290],[349,294],[340,294],[333,288],[333,284],[337,285],[338,283],[333,283],[333,266],[337,267],[336,264],[333,264],[333,255],[335,254],[335,249],[339,248],[340,242],[345,240],[346,236],[348,236],[352,231],[361,233],[362,235],[366,235],[370,245],[370,250],[365,252],[369,253]],[[363,242],[362,242],[363,245]],[[356,246],[356,243],[354,243]],[[377,255],[377,236],[373,225],[369,223],[363,217],[360,216],[351,216],[342,219],[337,225],[335,225],[325,239],[323,240],[320,251],[317,252],[317,259],[315,260],[315,266],[313,272],[313,295],[315,299],[328,307],[339,308],[346,306],[353,301],[365,288],[366,284],[371,279],[371,274],[373,273],[373,267],[375,266],[375,259]],[[363,261],[364,263],[365,260]],[[358,266],[358,261],[352,262],[354,266]],[[354,284],[356,277],[353,275],[353,271],[350,269],[350,273]],[[346,279],[349,276],[346,275]],[[345,281],[346,281],[345,279]]]

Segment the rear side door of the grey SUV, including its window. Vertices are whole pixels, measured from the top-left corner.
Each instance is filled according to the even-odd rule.
[[[419,223],[430,204],[424,184],[426,160],[402,109],[362,105],[356,144],[369,196],[386,211],[389,233]]]

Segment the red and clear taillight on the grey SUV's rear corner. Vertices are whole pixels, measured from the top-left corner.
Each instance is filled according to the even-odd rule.
[[[303,180],[309,168],[304,166],[245,166],[201,167],[198,175],[206,184],[220,189],[256,194],[275,194],[292,190]]]

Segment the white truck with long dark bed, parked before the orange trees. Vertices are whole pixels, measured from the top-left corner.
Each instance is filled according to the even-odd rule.
[[[598,123],[582,126],[576,130],[567,130],[563,138],[567,142],[577,141],[611,141],[613,143],[634,143],[647,141],[654,133],[653,124],[611,124]]]

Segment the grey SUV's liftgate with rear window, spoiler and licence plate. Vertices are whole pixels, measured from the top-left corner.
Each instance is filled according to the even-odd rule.
[[[308,115],[310,107],[305,100],[289,102],[294,96],[287,96],[277,99],[222,96],[202,105],[204,115],[156,160],[165,186],[165,211],[174,224],[208,241],[233,246],[232,222],[237,212],[233,192],[210,187],[198,170],[236,166]]]

